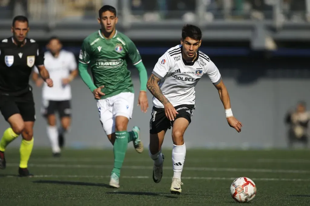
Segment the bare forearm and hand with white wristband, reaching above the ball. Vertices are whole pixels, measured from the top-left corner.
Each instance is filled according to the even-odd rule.
[[[215,87],[217,88],[219,92],[219,98],[221,99],[224,105],[226,119],[229,126],[235,128],[237,132],[241,132],[241,127],[243,125],[232,115],[229,94],[226,86],[223,83],[223,80],[220,80],[219,84],[216,84]]]

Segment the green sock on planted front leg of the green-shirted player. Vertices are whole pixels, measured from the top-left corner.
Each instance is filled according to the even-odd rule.
[[[127,131],[115,132],[115,142],[113,146],[114,168],[112,173],[115,173],[118,177],[121,174],[121,168],[125,159],[129,136],[129,132]]]

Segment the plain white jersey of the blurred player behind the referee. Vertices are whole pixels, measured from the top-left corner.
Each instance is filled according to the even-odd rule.
[[[71,71],[77,69],[77,62],[74,54],[69,51],[61,50],[55,58],[51,52],[44,53],[44,66],[53,80],[53,87],[48,87],[44,82],[42,88],[42,98],[52,101],[71,100],[71,86],[63,85],[62,79],[68,78]],[[34,72],[39,73],[38,68],[34,67]]]

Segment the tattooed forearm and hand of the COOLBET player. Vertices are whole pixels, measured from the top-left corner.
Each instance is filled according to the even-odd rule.
[[[147,82],[147,88],[148,90],[153,94],[154,97],[156,97],[165,107],[165,113],[166,117],[172,121],[176,117],[176,114],[179,114],[173,105],[170,103],[170,101],[162,94],[162,90],[158,86],[158,82],[160,79],[155,76],[154,74],[151,74],[151,76],[148,78]]]

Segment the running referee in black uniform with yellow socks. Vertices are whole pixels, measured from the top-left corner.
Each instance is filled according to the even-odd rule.
[[[32,176],[27,168],[33,148],[33,125],[35,110],[29,76],[35,65],[49,87],[53,81],[44,67],[44,54],[38,44],[26,38],[29,32],[28,19],[16,16],[11,31],[13,36],[0,42],[0,111],[10,124],[0,140],[0,168],[5,169],[4,151],[7,145],[20,134],[20,165],[22,177]]]

